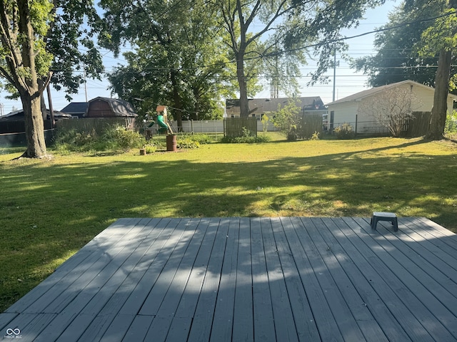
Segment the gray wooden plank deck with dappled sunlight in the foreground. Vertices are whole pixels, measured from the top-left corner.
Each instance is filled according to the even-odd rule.
[[[457,341],[428,219],[119,219],[0,314],[21,341]]]

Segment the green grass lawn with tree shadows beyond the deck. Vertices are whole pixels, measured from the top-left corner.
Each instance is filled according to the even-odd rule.
[[[428,217],[457,231],[457,146],[371,138],[141,156],[0,150],[3,311],[119,217]]]

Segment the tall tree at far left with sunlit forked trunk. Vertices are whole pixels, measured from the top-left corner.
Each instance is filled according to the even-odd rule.
[[[54,56],[71,56],[78,48],[75,41],[88,33],[87,28],[77,29],[88,11],[96,14],[91,1],[86,0],[0,1],[0,77],[6,80],[5,87],[21,98],[27,138],[24,157],[46,155],[41,94],[51,81],[53,61],[58,62]],[[88,38],[86,46],[91,46]],[[89,52],[95,57],[91,60],[96,60],[94,49]],[[65,76],[54,82],[65,81],[67,88],[75,89],[72,71],[59,69],[56,76],[59,73]]]

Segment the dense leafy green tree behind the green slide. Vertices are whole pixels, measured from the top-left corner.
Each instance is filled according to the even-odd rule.
[[[213,9],[202,0],[102,0],[115,53],[124,43],[127,66],[109,77],[112,89],[126,99],[142,98],[141,111],[157,104],[183,118],[206,118],[224,90],[226,53]],[[155,108],[154,108],[155,109]]]

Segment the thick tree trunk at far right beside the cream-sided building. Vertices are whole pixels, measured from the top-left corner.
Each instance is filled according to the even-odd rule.
[[[449,74],[451,70],[451,51],[441,50],[438,60],[438,69],[435,77],[435,94],[433,96],[433,108],[431,110],[430,124],[428,125],[427,139],[441,140],[444,126],[446,125],[446,113],[448,110]]]

